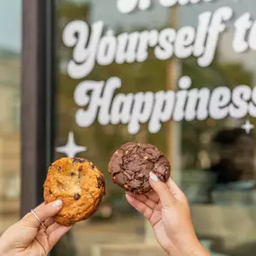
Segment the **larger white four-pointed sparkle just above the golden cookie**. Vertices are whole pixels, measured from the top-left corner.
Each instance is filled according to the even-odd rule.
[[[80,152],[86,151],[87,148],[85,146],[78,146],[75,144],[75,139],[74,139],[74,133],[70,132],[68,134],[68,139],[66,146],[59,146],[57,147],[56,151],[58,153],[63,153],[66,154],[67,157],[74,158],[75,154],[78,154]]]

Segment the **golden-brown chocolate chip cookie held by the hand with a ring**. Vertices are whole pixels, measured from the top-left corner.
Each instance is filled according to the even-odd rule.
[[[44,183],[44,200],[63,201],[55,216],[60,225],[72,225],[93,216],[105,194],[102,172],[84,158],[61,158],[49,166]]]

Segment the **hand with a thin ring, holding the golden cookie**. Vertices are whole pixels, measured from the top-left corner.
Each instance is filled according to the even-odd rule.
[[[70,230],[70,226],[55,223],[55,216],[62,207],[57,200],[48,205],[45,203],[34,209],[43,224],[29,213],[19,222],[12,225],[0,238],[1,256],[46,256],[57,241]]]

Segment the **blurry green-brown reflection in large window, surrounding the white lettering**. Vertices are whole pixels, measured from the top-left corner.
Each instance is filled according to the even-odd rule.
[[[73,131],[75,142],[88,148],[79,156],[93,161],[105,174],[107,195],[99,211],[90,220],[75,225],[73,232],[59,243],[56,255],[71,255],[71,252],[78,256],[116,255],[120,253],[119,247],[123,248],[123,255],[132,255],[129,254],[132,244],[140,244],[141,248],[148,244],[155,246],[154,234],[144,218],[129,207],[123,191],[110,181],[107,171],[110,155],[128,141],[154,144],[169,157],[172,176],[190,201],[196,232],[212,255],[245,255],[245,244],[256,241],[252,228],[256,224],[254,131],[250,135],[245,133],[245,118],[171,121],[156,134],[148,132],[146,123],[137,135],[130,135],[127,126],[122,124],[102,126],[95,121],[88,128],[80,128],[75,123],[78,106],[74,91],[85,80],[107,81],[111,76],[118,76],[122,86],[117,93],[125,94],[177,91],[181,76],[191,78],[191,89],[196,92],[207,88],[212,93],[219,86],[233,90],[240,84],[253,88],[255,53],[238,55],[232,51],[234,31],[230,25],[218,43],[213,63],[204,68],[198,65],[195,57],[163,61],[154,56],[154,49],[149,49],[145,62],[96,65],[84,79],[70,78],[66,66],[72,59],[73,49],[67,48],[62,41],[62,32],[68,22],[83,20],[90,25],[102,20],[116,34],[152,28],[162,31],[167,27],[196,27],[199,13],[216,10],[223,4],[213,1],[166,9],[156,2],[146,12],[124,15],[117,11],[114,0],[104,3],[57,1],[56,146],[65,145],[68,133]],[[225,4],[240,14],[251,10],[250,3],[248,5],[245,0],[239,3],[226,0]],[[255,119],[246,118],[256,124]],[[61,156],[55,155],[56,158]],[[251,251],[246,255],[254,255],[252,246],[249,248]],[[154,255],[157,253],[161,251]]]

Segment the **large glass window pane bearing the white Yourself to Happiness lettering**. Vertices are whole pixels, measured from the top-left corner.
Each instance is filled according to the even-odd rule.
[[[128,141],[168,156],[211,255],[256,252],[254,2],[173,2],[56,1],[55,158],[74,137],[76,156],[107,180],[98,212],[75,225],[57,256],[162,255],[110,181],[110,156]]]

